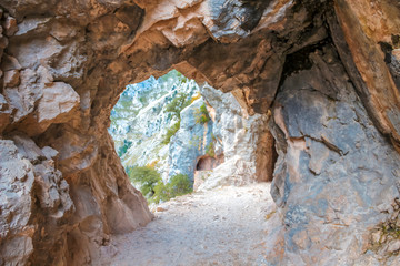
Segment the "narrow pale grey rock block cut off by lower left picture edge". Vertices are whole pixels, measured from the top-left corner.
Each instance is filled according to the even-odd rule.
[[[31,191],[33,165],[18,153],[12,141],[1,141],[1,252],[2,264],[26,264],[33,253]],[[6,175],[7,173],[7,175]]]

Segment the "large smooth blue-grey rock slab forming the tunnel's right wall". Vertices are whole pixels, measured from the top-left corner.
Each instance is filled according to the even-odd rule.
[[[331,45],[303,60],[312,66],[288,73],[271,121],[271,193],[287,242],[280,263],[362,265],[374,258],[362,239],[387,216],[378,206],[399,196],[399,154],[370,123]]]

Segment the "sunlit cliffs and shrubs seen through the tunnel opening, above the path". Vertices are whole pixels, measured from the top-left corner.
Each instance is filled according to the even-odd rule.
[[[231,93],[176,70],[127,85],[110,119],[116,151],[149,204],[271,180],[273,139],[252,130],[262,115],[247,115]]]

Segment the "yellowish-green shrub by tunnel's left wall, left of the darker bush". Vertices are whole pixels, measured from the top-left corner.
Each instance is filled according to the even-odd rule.
[[[154,167],[128,167],[127,173],[132,182],[140,184],[140,191],[147,198],[154,195],[154,186],[161,181],[160,173],[158,173]]]

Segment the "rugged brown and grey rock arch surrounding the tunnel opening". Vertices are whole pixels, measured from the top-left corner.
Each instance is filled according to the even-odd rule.
[[[127,84],[172,68],[233,91],[250,114],[271,109],[283,223],[272,260],[397,252],[369,232],[398,228],[398,1],[0,7],[0,264],[93,264],[109,234],[151,219],[107,129]]]

